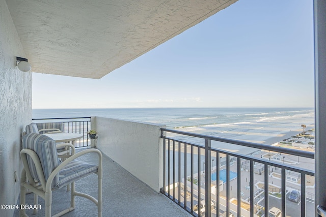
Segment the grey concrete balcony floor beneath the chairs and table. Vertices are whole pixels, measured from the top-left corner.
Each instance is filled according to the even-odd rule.
[[[80,151],[83,149],[76,149]],[[96,164],[96,154],[79,158]],[[140,168],[142,169],[142,168]],[[97,198],[97,175],[75,182],[76,191],[90,194]],[[103,209],[102,216],[192,216],[166,196],[155,192],[139,179],[132,176],[112,159],[103,154]],[[26,204],[33,204],[33,194],[26,195]],[[29,216],[44,216],[44,200],[39,197],[41,210],[35,215],[26,210]],[[63,216],[97,216],[97,206],[83,197],[75,197],[75,209]],[[62,188],[52,192],[52,215],[68,208],[70,192]],[[15,212],[14,216],[19,216]]]

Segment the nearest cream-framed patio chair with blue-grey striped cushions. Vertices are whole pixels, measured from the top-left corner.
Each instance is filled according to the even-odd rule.
[[[74,152],[74,149],[72,149]],[[92,165],[75,160],[90,152],[98,154],[98,165]],[[71,206],[55,216],[61,216],[75,208],[74,196],[82,196],[97,205],[98,216],[102,216],[102,154],[98,149],[80,151],[60,163],[56,142],[51,138],[37,133],[23,136],[23,149],[20,151],[23,170],[20,180],[20,204],[25,204],[26,189],[45,200],[45,216],[51,216],[52,191],[61,189],[71,183]],[[76,192],[75,181],[90,174],[98,175],[98,199]],[[39,182],[40,184],[38,184]],[[20,210],[20,216],[26,216],[25,210]]]

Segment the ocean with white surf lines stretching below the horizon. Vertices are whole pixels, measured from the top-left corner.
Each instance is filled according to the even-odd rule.
[[[160,123],[169,129],[274,144],[314,128],[313,108],[33,109],[33,118],[101,116]]]

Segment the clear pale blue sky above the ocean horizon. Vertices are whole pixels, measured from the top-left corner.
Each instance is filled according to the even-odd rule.
[[[313,107],[313,56],[312,1],[239,0],[99,80],[33,73],[33,109]]]

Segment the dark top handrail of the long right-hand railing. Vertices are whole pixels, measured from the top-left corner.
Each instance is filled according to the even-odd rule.
[[[197,134],[197,133],[189,133],[189,132],[183,132],[183,131],[172,130],[172,129],[167,129],[167,128],[161,128],[161,138],[164,138],[163,132],[177,133],[177,134],[193,136],[193,137],[202,138],[202,139],[209,139],[209,140],[213,140],[213,141],[226,142],[226,143],[231,143],[231,144],[241,145],[241,146],[246,146],[246,147],[252,147],[252,148],[257,148],[257,149],[281,152],[281,153],[291,154],[294,156],[301,156],[304,158],[310,158],[310,159],[315,158],[315,154],[308,152],[308,151],[295,150],[295,149],[289,149],[289,148],[284,148],[284,147],[276,147],[276,146],[272,146],[272,145],[264,145],[264,144],[258,144],[258,143],[253,143],[253,142],[227,139],[227,138],[222,138],[222,137],[208,136],[208,135]]]

